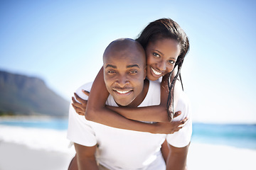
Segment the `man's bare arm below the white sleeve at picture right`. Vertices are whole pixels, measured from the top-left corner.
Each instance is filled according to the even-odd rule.
[[[173,147],[169,145],[169,156],[166,162],[166,170],[186,170],[188,147],[189,144],[186,147]]]

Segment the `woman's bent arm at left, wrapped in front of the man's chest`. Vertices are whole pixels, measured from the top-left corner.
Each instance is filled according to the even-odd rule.
[[[92,84],[92,89],[87,101],[85,118],[95,123],[108,125],[113,128],[121,128],[126,130],[136,130],[140,132],[159,132],[156,125],[148,123],[140,123],[136,120],[129,120],[117,112],[105,107],[109,93],[106,89],[103,69],[100,69],[99,74]]]

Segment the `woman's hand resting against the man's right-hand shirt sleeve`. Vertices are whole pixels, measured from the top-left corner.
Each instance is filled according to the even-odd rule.
[[[174,114],[174,118],[176,118],[178,115],[181,115],[181,111],[178,111]],[[181,130],[184,125],[186,125],[186,121],[188,118],[184,118],[180,121],[171,121],[170,123],[156,123],[156,133],[161,134],[173,134],[174,132],[178,132],[178,130]]]

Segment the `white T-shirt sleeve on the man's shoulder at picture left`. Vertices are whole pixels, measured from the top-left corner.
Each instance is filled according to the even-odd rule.
[[[92,83],[84,84],[76,91],[76,94],[87,100],[87,96],[82,93],[82,89],[90,91]],[[84,115],[78,115],[75,109],[70,103],[69,115],[68,115],[68,140],[75,142],[79,145],[92,147],[97,144],[95,132],[93,132],[90,121],[85,119]]]

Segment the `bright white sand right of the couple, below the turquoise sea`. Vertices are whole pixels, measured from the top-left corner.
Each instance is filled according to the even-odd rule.
[[[188,152],[189,170],[255,169],[256,150],[224,145],[191,143]]]

